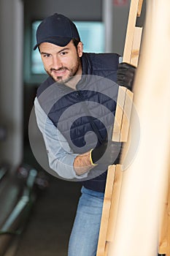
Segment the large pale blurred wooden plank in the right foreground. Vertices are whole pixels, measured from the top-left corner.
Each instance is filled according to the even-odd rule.
[[[170,167],[170,2],[165,0],[162,4],[158,0],[148,3],[150,8],[147,9],[142,59],[134,84],[141,137],[136,158],[123,175],[119,225],[116,226],[115,240],[109,245],[108,255],[151,256],[158,249],[158,211],[162,210],[163,177]],[[158,54],[162,49],[166,56]],[[162,65],[166,68],[160,74]],[[161,89],[160,83],[163,85]],[[161,121],[158,121],[158,116]],[[131,121],[131,129],[133,134],[138,132],[135,118]],[[169,223],[167,226],[169,244]],[[169,255],[169,249],[166,255]]]

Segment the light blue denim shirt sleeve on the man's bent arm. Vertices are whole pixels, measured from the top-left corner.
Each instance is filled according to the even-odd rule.
[[[62,178],[86,178],[88,173],[84,173],[80,176],[75,173],[73,164],[74,159],[78,154],[73,153],[66,138],[63,137],[61,132],[55,127],[53,122],[48,118],[45,111],[39,105],[37,97],[34,100],[34,106],[36,123],[40,132],[42,132],[45,141],[50,168]]]

